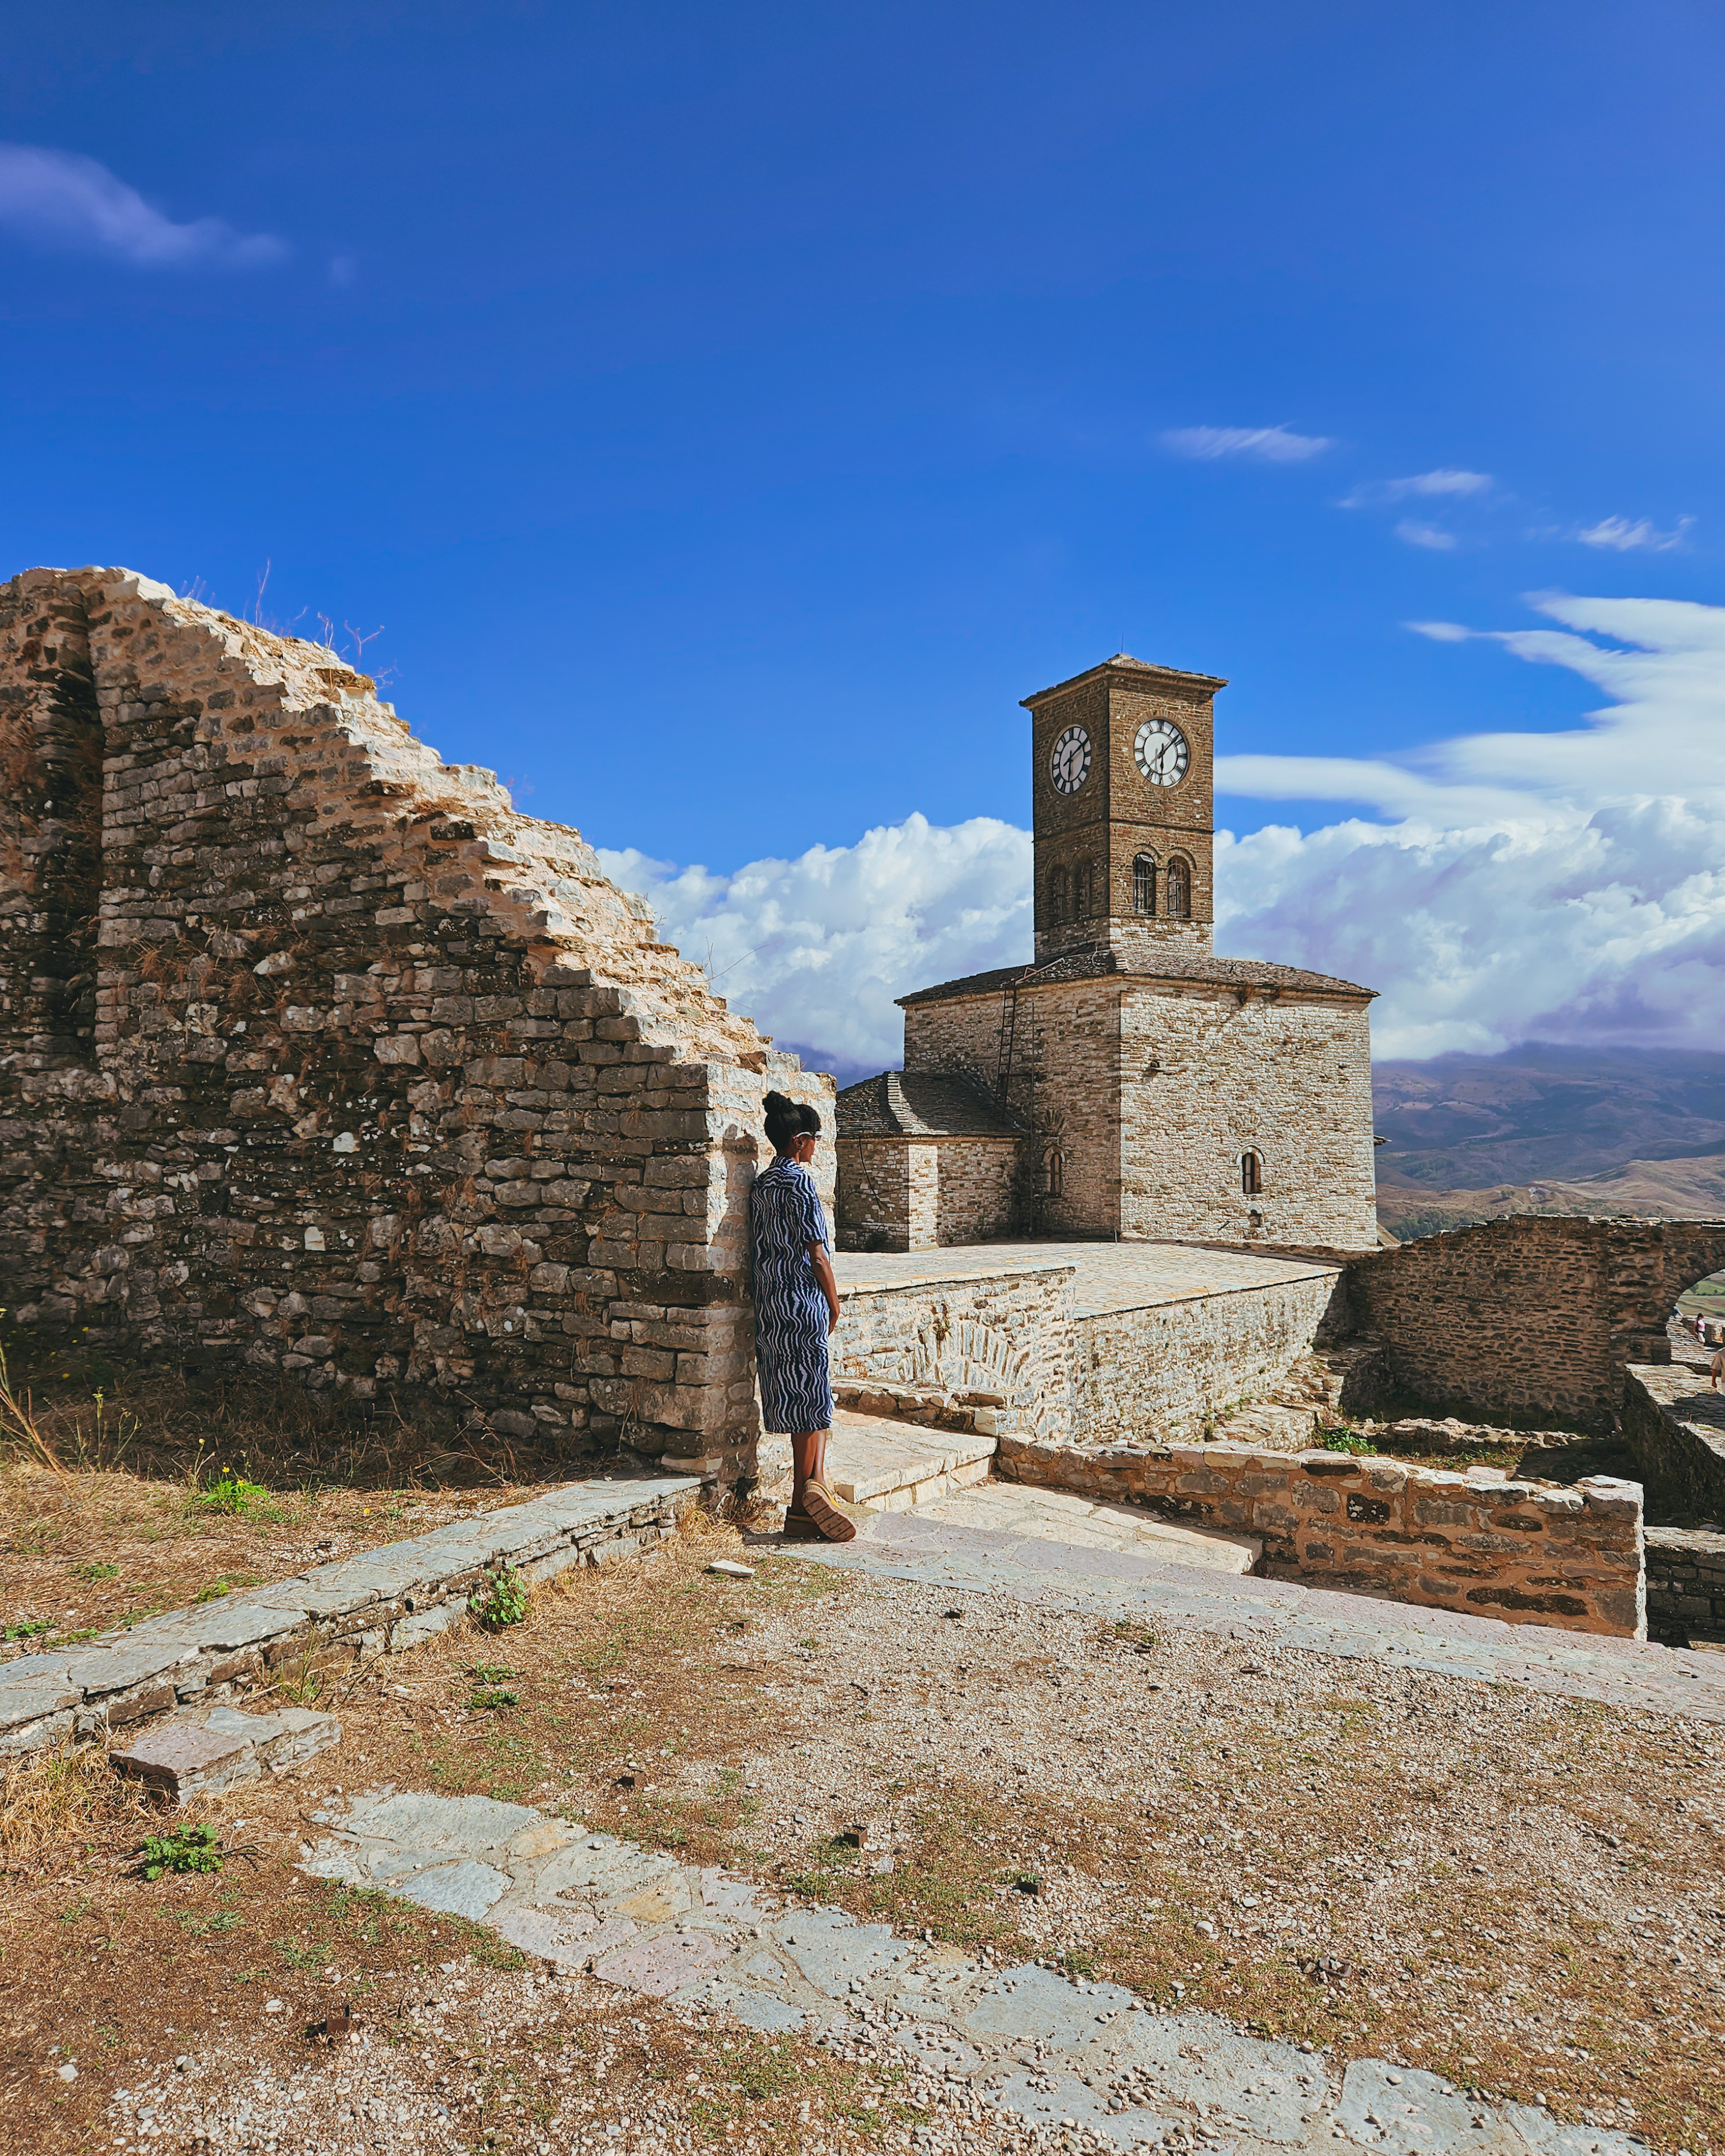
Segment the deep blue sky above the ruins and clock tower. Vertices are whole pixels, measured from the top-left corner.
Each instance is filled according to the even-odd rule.
[[[1408,623],[1725,597],[1723,63],[1660,0],[39,11],[6,567],[250,610],[267,561],[265,617],[382,623],[425,737],[666,888],[1022,826],[1018,699],[1121,645],[1229,675],[1233,755],[1561,757],[1574,651]],[[1231,776],[1242,839],[1408,815]]]

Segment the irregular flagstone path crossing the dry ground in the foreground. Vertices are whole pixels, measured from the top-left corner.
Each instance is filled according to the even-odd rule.
[[[328,1833],[302,1846],[313,1878],[470,1917],[563,1971],[750,2029],[837,2042],[886,2029],[985,2113],[1085,2126],[1121,2152],[1179,2134],[1216,2156],[1645,2156],[1630,2134],[1559,2126],[1436,2074],[1382,2059],[1337,2072],[1320,2053],[1164,2012],[1117,1984],[988,1968],[837,1908],[787,1906],[755,1880],[522,1805],[380,1789],[315,1824]]]

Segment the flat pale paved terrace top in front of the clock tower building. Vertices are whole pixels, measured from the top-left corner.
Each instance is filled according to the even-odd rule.
[[[1192,1302],[1248,1287],[1281,1287],[1337,1274],[1309,1257],[1268,1250],[1212,1250],[1195,1242],[966,1242],[940,1250],[841,1250],[832,1259],[839,1289],[914,1287],[932,1281],[977,1281],[992,1272],[1072,1266],[1074,1315],[1143,1311],[1158,1302]]]

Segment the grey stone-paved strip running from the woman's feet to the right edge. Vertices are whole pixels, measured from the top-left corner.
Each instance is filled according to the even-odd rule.
[[[1501,1617],[1414,1608],[1294,1580],[1231,1578],[1143,1552],[1074,1548],[932,1516],[942,1509],[878,1514],[856,1542],[798,1546],[798,1557],[960,1593],[1050,1600],[1108,1617],[1160,1617],[1341,1660],[1380,1656],[1481,1684],[1527,1684],[1570,1699],[1725,1723],[1725,1656],[1512,1626]]]

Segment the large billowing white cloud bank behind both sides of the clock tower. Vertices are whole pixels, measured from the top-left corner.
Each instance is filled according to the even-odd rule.
[[[1522,1039],[1716,1048],[1725,1037],[1725,606],[1533,602],[1546,625],[1460,630],[1563,666],[1604,703],[1552,733],[1406,757],[1220,757],[1218,789],[1335,802],[1315,830],[1218,834],[1218,949],[1382,990],[1384,1056]],[[606,869],[720,992],[845,1076],[897,1063],[912,987],[1031,953],[1031,839],[923,817],[733,875],[640,854]]]

